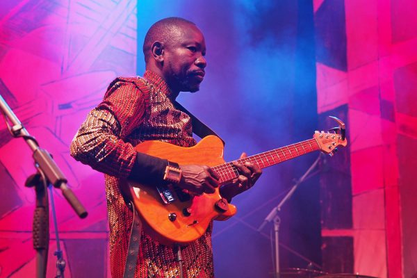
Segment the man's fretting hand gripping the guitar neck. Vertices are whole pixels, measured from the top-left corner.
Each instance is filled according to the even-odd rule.
[[[246,156],[245,153],[242,153],[240,158],[245,158]],[[254,163],[239,163],[238,161],[233,161],[232,163],[238,169],[239,177],[220,188],[220,194],[228,200],[252,188],[262,174],[261,168]]]

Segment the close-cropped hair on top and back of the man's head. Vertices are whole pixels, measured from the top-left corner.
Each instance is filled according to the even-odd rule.
[[[170,44],[172,40],[183,31],[184,27],[194,25],[193,22],[183,19],[181,17],[167,17],[156,22],[149,28],[143,42],[143,54],[145,56],[145,63],[151,56],[152,44],[156,41],[163,44]]]

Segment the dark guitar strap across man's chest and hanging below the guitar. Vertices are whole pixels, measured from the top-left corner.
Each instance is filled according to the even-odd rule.
[[[144,81],[144,78],[139,79],[139,81]],[[147,85],[147,84],[146,84]],[[190,113],[186,108],[184,108],[181,104],[177,101],[174,101],[174,107],[177,108],[179,111],[186,113],[191,118],[191,123],[193,124],[193,133],[199,136],[199,138],[204,138],[209,135],[218,136],[211,128],[209,128],[206,124],[202,121],[198,120],[195,115]],[[222,138],[220,138],[222,140]],[[224,140],[222,140],[223,145]],[[127,198],[122,193],[124,197],[124,201],[127,201]],[[142,222],[140,221],[139,215],[136,212],[135,206],[133,206],[133,202],[126,202],[127,206],[133,211],[133,221],[131,227],[131,235],[129,238],[129,245],[127,247],[127,256],[126,256],[126,264],[124,265],[124,273],[123,278],[134,278],[136,272],[136,263],[138,261],[138,254],[140,248],[140,236],[142,230]]]

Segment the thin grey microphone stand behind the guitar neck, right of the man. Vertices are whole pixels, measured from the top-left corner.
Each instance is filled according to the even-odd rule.
[[[281,207],[288,201],[288,199],[293,196],[295,193],[295,190],[297,190],[298,186],[306,179],[306,177],[309,176],[311,171],[316,167],[318,162],[320,161],[322,154],[320,153],[318,157],[316,158],[316,161],[311,164],[309,167],[309,170],[307,170],[300,179],[298,179],[297,182],[293,185],[291,190],[288,191],[288,193],[284,196],[284,198],[279,202],[278,206],[275,206],[275,208],[272,208],[272,211],[266,216],[265,220],[263,220],[261,226],[259,226],[258,231],[262,231],[263,227],[265,227],[266,224],[274,221],[274,232],[275,232],[275,278],[279,278],[280,270],[279,270],[279,225],[281,224],[281,218],[279,218],[279,211],[281,211]]]

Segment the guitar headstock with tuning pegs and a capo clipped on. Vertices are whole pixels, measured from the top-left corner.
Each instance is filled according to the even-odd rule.
[[[337,117],[330,116],[339,126],[330,129],[331,132],[315,131],[313,138],[316,139],[320,149],[325,154],[333,156],[337,151],[337,147],[346,147],[347,140],[345,137],[345,124]]]

